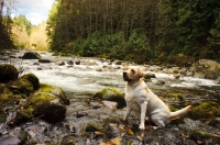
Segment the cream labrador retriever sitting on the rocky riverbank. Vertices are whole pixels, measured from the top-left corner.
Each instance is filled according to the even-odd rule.
[[[128,120],[132,110],[138,112],[141,114],[141,124],[139,126],[141,130],[145,129],[146,116],[158,127],[164,127],[169,122],[169,118],[186,113],[191,108],[191,105],[188,105],[176,112],[170,112],[168,107],[146,86],[143,80],[143,71],[138,67],[128,67],[123,71],[123,79],[127,81],[124,121]]]

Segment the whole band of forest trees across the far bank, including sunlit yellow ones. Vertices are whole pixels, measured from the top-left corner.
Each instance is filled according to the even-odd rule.
[[[55,0],[41,27],[24,15],[11,19],[10,8],[4,14],[2,10],[3,0],[1,49],[34,46],[138,64],[176,58],[220,62],[219,0]],[[42,38],[34,42],[37,37]]]

